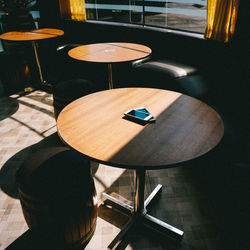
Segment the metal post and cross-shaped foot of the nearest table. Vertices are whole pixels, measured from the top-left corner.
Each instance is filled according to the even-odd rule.
[[[115,239],[109,244],[108,249],[122,249],[122,240],[128,231],[133,230],[136,226],[146,226],[149,229],[154,230],[157,233],[166,235],[175,240],[181,240],[184,232],[147,214],[147,207],[152,203],[154,198],[161,192],[162,185],[158,184],[153,192],[144,201],[144,189],[145,189],[145,169],[135,170],[135,197],[134,207],[130,206],[106,193],[102,193],[102,196],[111,202],[115,207],[126,211],[131,214],[131,218],[127,224],[122,228]]]

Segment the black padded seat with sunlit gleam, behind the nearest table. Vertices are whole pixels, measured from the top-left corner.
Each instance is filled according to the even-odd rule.
[[[132,64],[125,87],[149,87],[177,91],[210,102],[207,79],[197,68],[168,59],[149,59]]]

